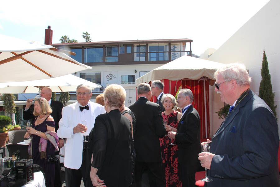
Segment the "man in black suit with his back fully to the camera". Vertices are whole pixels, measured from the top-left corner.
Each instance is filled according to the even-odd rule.
[[[165,186],[159,138],[166,130],[163,125],[160,105],[150,102],[152,98],[149,84],[137,87],[138,100],[128,108],[136,118],[134,147],[136,151],[135,182],[141,187],[142,173],[147,170],[150,186]]]

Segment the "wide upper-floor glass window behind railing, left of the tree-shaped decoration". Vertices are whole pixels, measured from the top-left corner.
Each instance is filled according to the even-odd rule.
[[[168,58],[168,43],[148,44],[149,61],[163,61]]]

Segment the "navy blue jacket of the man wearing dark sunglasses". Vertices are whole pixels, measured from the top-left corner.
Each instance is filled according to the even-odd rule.
[[[280,186],[278,145],[271,109],[248,89],[212,138],[207,186]]]

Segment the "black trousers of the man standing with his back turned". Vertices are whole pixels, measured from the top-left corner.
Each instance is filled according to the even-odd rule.
[[[142,174],[147,170],[150,187],[165,187],[165,175],[162,162],[135,162],[135,183],[142,186]],[[135,185],[133,185],[135,186]]]

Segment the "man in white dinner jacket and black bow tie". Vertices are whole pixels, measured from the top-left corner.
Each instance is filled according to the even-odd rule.
[[[85,84],[77,86],[77,101],[62,109],[62,118],[59,121],[58,137],[67,138],[65,146],[65,183],[67,187],[81,185],[83,178],[86,185],[86,149],[88,137],[94,126],[95,118],[105,113],[104,107],[90,101],[91,87]],[[86,126],[84,124],[86,120]]]

